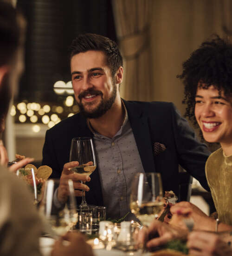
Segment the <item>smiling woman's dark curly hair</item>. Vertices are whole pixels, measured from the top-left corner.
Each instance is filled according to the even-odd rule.
[[[208,88],[213,85],[219,93],[224,92],[225,96],[232,93],[232,44],[227,39],[221,39],[213,35],[213,39],[206,40],[195,50],[190,58],[183,63],[182,74],[177,78],[184,83],[184,100],[187,104],[185,116],[193,120],[195,95],[198,85]]]

